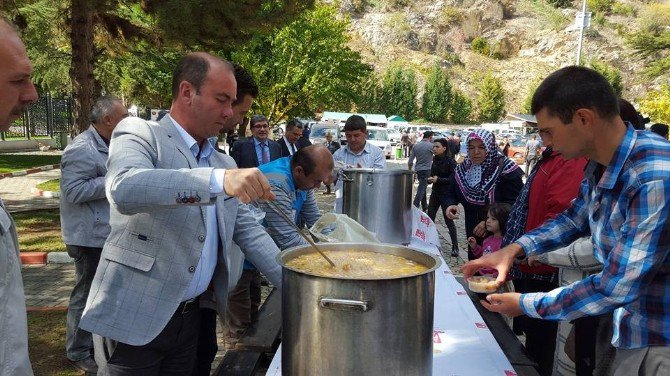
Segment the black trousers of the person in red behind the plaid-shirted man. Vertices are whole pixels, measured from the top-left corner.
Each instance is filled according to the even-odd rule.
[[[514,290],[521,293],[547,292],[558,287],[555,283],[533,279],[515,279],[513,282]],[[519,316],[514,318],[514,331],[519,330],[526,334],[526,350],[537,362],[539,374],[551,376],[558,322]]]

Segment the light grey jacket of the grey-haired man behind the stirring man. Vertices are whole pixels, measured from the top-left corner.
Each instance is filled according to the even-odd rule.
[[[93,126],[65,148],[61,158],[60,223],[68,245],[102,248],[109,235],[105,174],[109,148]]]

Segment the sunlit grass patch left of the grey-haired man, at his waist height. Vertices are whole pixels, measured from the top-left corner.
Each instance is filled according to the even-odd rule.
[[[65,251],[60,233],[60,210],[34,210],[12,214],[22,252]]]

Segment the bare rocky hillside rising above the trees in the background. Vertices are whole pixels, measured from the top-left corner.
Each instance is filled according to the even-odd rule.
[[[581,0],[556,9],[546,0],[340,0],[350,19],[351,45],[383,72],[394,60],[423,77],[435,63],[450,69],[452,84],[471,98],[487,70],[503,82],[508,112],[517,112],[529,85],[551,71],[574,64]],[[642,1],[617,0],[616,12],[596,15],[585,32],[582,59],[605,62],[622,72],[624,97],[635,101],[667,77],[653,82],[641,75],[645,60],[633,55],[624,35],[638,27]],[[579,8],[579,9],[578,9]],[[485,56],[472,50],[474,38],[491,46]]]

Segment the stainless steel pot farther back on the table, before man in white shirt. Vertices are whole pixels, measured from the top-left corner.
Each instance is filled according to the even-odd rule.
[[[342,213],[384,243],[409,244],[414,172],[353,168],[343,173]]]

